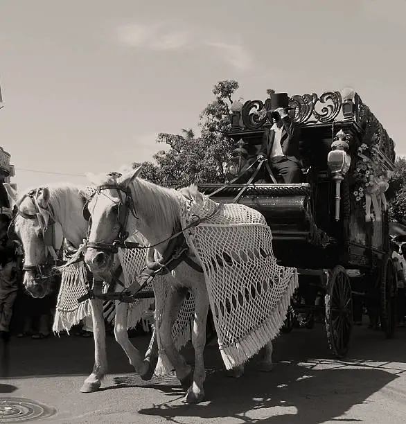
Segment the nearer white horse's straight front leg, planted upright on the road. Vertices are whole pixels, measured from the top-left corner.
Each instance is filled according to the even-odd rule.
[[[209,312],[209,294],[206,286],[200,285],[193,291],[195,297],[195,319],[193,321],[192,344],[195,349],[195,371],[193,382],[188,388],[184,403],[199,403],[204,398],[204,380],[206,371],[204,369],[204,347],[206,346],[206,321]]]

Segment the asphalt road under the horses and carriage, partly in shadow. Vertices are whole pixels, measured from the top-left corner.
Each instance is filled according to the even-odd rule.
[[[145,350],[147,337],[135,337]],[[355,328],[346,361],[333,360],[324,326],[294,329],[275,342],[274,370],[249,363],[238,380],[227,377],[218,348],[206,348],[206,401],[181,402],[175,377],[143,382],[112,337],[107,337],[109,375],[100,391],[79,389],[93,366],[93,340],[51,337],[12,339],[10,377],[0,398],[28,398],[56,412],[42,423],[405,423],[406,329],[395,339]],[[191,349],[186,356],[191,357]],[[1,422],[1,419],[0,419]]]

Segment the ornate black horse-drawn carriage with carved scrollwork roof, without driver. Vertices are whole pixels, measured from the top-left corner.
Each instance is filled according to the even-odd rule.
[[[299,301],[293,308],[322,308],[330,349],[344,357],[356,296],[366,294],[387,337],[394,333],[396,272],[385,209],[394,143],[352,89],[292,96],[290,106],[301,127],[303,183],[281,184],[274,175],[267,184],[202,184],[199,189],[218,202],[239,195],[238,202],[263,213],[276,258],[299,269]],[[272,125],[270,99],[234,102],[232,112],[238,165],[255,156]],[[364,278],[357,279],[355,290],[350,275],[357,274]],[[318,296],[324,301],[316,306]]]

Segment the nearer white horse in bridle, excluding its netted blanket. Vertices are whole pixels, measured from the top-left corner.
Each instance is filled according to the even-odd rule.
[[[89,175],[91,183],[98,186],[96,195],[88,208],[91,227],[85,254],[85,262],[95,274],[104,273],[113,264],[109,251],[119,233],[139,231],[151,245],[156,245],[158,254],[165,258],[173,234],[180,228],[179,192],[157,186],[138,178],[141,167],[125,175],[110,174],[99,177]],[[186,192],[187,193],[187,189]],[[190,193],[189,193],[190,194]],[[200,193],[199,193],[200,194]],[[125,199],[125,202],[123,201]],[[125,211],[127,209],[127,211]],[[123,210],[126,213],[123,213]],[[125,217],[125,222],[123,222]],[[163,240],[167,240],[164,241]],[[96,242],[96,244],[94,244]],[[100,249],[100,247],[103,247]],[[188,257],[193,260],[191,252]],[[204,282],[204,274],[183,261],[172,271],[175,280],[166,299],[163,313],[156,310],[156,326],[161,337],[161,346],[173,364],[177,378],[187,389],[186,403],[199,403],[204,398],[204,346],[206,341],[206,318],[209,310],[209,295]],[[171,328],[184,298],[184,288],[195,298],[195,318],[192,344],[195,349],[195,369],[192,373],[184,357],[173,344]],[[263,371],[272,369],[272,342],[264,349]],[[242,374],[243,366],[237,373]]]

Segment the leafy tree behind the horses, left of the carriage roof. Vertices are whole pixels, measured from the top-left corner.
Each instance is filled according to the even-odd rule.
[[[180,134],[158,134],[157,143],[169,146],[154,155],[157,166],[144,162],[141,177],[164,186],[186,186],[193,182],[224,182],[224,163],[233,150],[230,107],[238,82],[224,80],[213,87],[215,99],[200,114],[200,136],[191,128]]]

